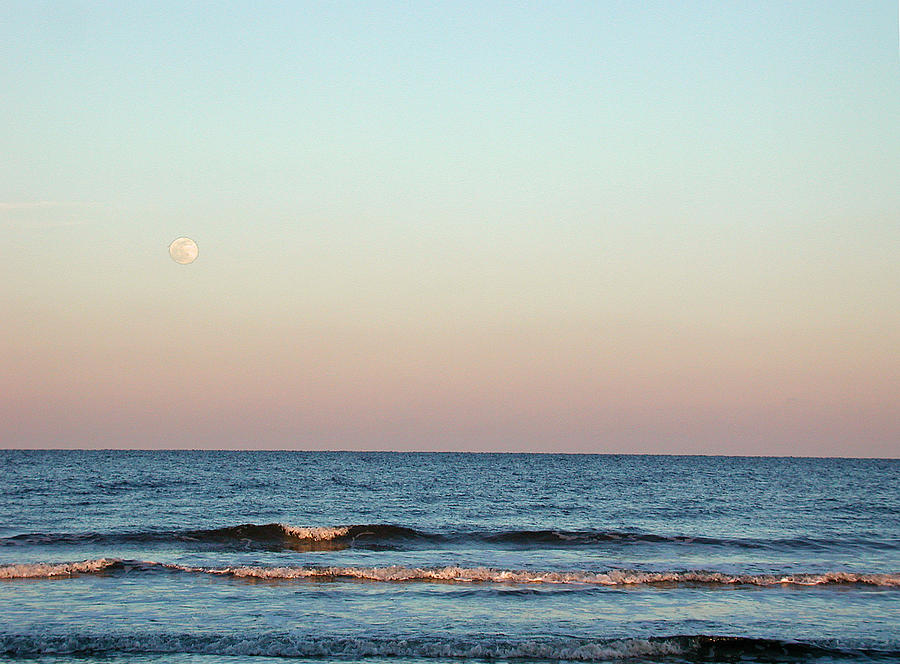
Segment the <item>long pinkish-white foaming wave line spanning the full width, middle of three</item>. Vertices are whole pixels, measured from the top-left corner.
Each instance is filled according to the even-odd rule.
[[[900,574],[824,572],[801,574],[725,574],[704,570],[593,572],[507,570],[489,567],[190,567],[154,561],[99,558],[70,563],[17,564],[0,567],[0,579],[41,579],[103,574],[119,570],[207,574],[251,580],[358,580],[377,582],[438,581],[448,583],[580,584],[588,586],[707,585],[707,586],[834,586],[861,584],[900,587]]]

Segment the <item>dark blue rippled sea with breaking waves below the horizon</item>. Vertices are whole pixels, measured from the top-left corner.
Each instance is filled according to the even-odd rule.
[[[900,661],[896,460],[0,459],[12,661]]]

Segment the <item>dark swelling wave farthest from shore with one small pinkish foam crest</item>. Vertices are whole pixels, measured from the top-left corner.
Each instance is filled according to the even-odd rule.
[[[900,540],[864,539],[751,539],[691,535],[658,535],[617,530],[509,530],[428,533],[393,524],[346,526],[292,526],[283,523],[255,524],[198,530],[149,530],[111,533],[26,533],[0,538],[0,546],[165,544],[181,542],[193,546],[263,549],[339,550],[348,547],[380,548],[419,546],[427,543],[490,544],[514,547],[569,547],[597,545],[677,544],[749,549],[827,549],[862,547],[900,548]]]

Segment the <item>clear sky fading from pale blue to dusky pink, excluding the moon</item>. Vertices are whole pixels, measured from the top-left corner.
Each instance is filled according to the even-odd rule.
[[[4,2],[0,446],[898,457],[897,12]]]

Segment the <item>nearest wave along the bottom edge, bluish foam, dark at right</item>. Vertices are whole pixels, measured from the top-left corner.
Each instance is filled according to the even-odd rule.
[[[650,638],[512,640],[417,637],[327,637],[290,633],[221,634],[0,634],[0,655],[204,654],[303,658],[518,659],[537,661],[784,661],[785,658],[892,661],[900,651],[842,648],[828,643],[740,636],[678,635]]]

